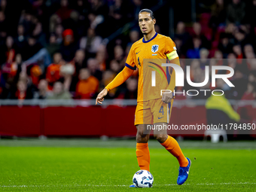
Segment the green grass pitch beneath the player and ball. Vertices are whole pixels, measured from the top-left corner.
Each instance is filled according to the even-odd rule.
[[[192,160],[185,184],[178,161],[149,142],[152,188],[129,188],[139,170],[134,140],[1,139],[1,191],[256,191],[256,142],[181,142]]]

